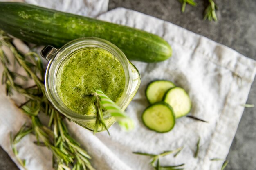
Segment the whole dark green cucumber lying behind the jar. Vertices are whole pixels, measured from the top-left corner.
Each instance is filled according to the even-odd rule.
[[[157,62],[171,57],[161,37],[127,26],[17,2],[0,2],[0,28],[27,42],[61,47],[80,37],[99,37],[130,60]]]

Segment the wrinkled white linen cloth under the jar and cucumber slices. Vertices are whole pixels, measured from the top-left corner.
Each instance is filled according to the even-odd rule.
[[[97,170],[153,170],[149,158],[132,151],[160,153],[184,146],[177,156],[168,155],[161,164],[185,163],[187,170],[217,170],[225,159],[242,116],[250,86],[256,73],[256,61],[238,52],[157,18],[123,8],[99,16],[117,24],[139,28],[163,37],[173,48],[173,57],[160,63],[132,61],[141,73],[141,86],[127,113],[135,121],[131,132],[121,131],[117,124],[106,132],[92,132],[68,122],[70,132],[88,150]],[[1,69],[1,68],[0,68]],[[168,133],[155,133],[141,122],[141,113],[148,106],[144,95],[146,85],[154,79],[167,79],[183,87],[191,97],[191,115],[209,123],[180,118]],[[242,83],[242,84],[241,84]],[[9,146],[9,132],[18,131],[25,122],[21,113],[4,96],[0,87],[0,144],[16,161]],[[13,126],[16,124],[16,126]],[[193,157],[198,137],[200,151]],[[29,170],[50,169],[51,153],[35,146],[29,135],[18,144],[19,156],[27,160]]]

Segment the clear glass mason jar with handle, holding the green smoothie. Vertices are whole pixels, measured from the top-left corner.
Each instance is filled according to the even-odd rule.
[[[64,104],[57,91],[57,76],[61,66],[72,56],[72,54],[87,48],[99,48],[110,52],[124,69],[124,91],[116,102],[122,110],[126,109],[132,98],[135,96],[140,85],[141,77],[137,68],[128,61],[124,53],[117,46],[104,39],[85,37],[70,41],[58,50],[52,46],[45,46],[45,48],[43,48],[41,55],[49,61],[45,73],[45,89],[47,98],[52,105],[67,118],[74,121],[76,124],[93,131],[96,115],[82,115],[80,113],[76,113]],[[115,118],[110,116],[108,111],[103,113],[103,118],[107,128],[115,122]],[[98,131],[102,130],[104,130],[103,127],[99,127]]]

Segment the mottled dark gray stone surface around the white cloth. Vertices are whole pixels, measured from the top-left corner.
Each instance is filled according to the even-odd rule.
[[[256,59],[256,0],[216,0],[218,22],[202,20],[207,0],[195,0],[197,7],[180,12],[177,0],[110,0],[109,9],[125,7],[170,21],[190,31],[224,44]],[[256,104],[256,82],[247,103]],[[256,169],[256,108],[245,108],[231,146],[226,170]],[[0,148],[0,169],[16,170],[15,164]]]

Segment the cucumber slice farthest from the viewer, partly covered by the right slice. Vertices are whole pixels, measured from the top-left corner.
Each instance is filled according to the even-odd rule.
[[[175,84],[167,80],[156,80],[148,84],[146,88],[146,98],[150,104],[163,100],[165,92],[175,87]]]

